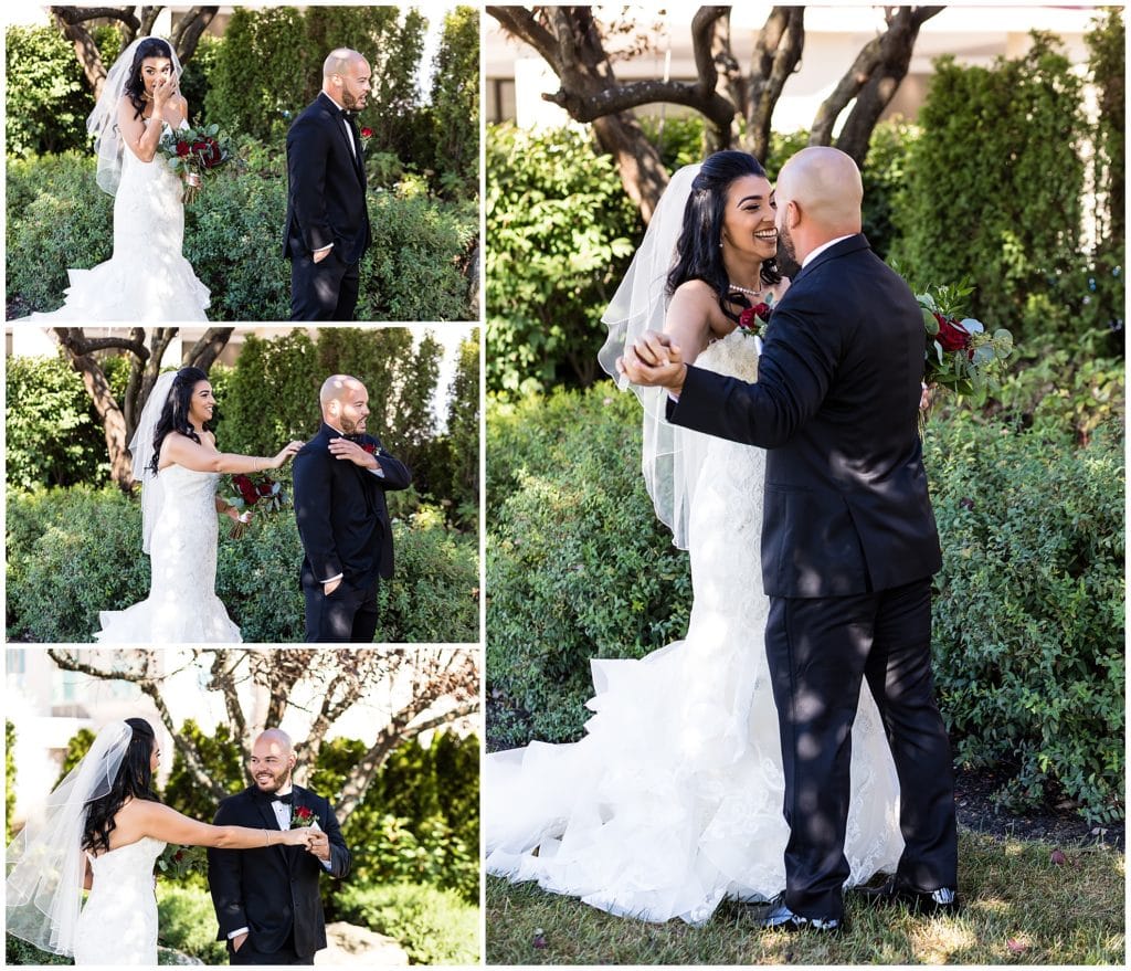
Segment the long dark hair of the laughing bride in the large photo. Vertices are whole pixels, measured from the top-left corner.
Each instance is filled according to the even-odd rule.
[[[766,170],[748,152],[716,152],[703,161],[683,209],[683,225],[675,244],[676,263],[667,274],[668,297],[680,284],[701,280],[718,294],[718,306],[732,320],[736,320],[737,315],[732,313],[726,304],[749,307],[750,301],[729,289],[719,243],[726,215],[726,192],[731,183],[743,175],[766,175]],[[776,259],[762,261],[761,278],[766,285],[782,280]]]

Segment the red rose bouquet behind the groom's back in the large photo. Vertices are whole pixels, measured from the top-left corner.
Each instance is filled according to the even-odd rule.
[[[964,317],[962,301],[973,287],[927,286],[916,293],[925,328],[925,373],[927,385],[938,385],[985,403],[1001,388],[1005,362],[1013,354],[1013,335],[1003,327],[986,333],[981,320]]]

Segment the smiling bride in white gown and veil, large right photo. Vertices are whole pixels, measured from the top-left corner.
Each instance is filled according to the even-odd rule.
[[[689,363],[754,380],[759,341],[737,325],[788,286],[774,214],[770,183],[746,153],[676,172],[605,315],[605,370],[615,377],[625,345],[663,321]],[[487,756],[486,866],[610,913],[701,925],[724,899],[767,901],[785,888],[759,581],[765,453],[671,426],[666,393],[632,390],[648,492],[690,553],[688,633],[639,661],[592,662],[595,715],[580,741]],[[893,870],[903,849],[898,781],[866,684],[852,746],[845,852],[856,884]]]

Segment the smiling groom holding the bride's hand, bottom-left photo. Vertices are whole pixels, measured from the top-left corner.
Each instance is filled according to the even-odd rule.
[[[227,942],[232,964],[313,964],[326,947],[326,920],[318,880],[349,873],[351,856],[334,807],[294,785],[290,737],[267,729],[251,747],[253,784],[219,804],[217,826],[290,830],[317,823],[309,850],[276,843],[260,850],[208,850],[217,940]],[[304,823],[310,818],[313,822]],[[293,820],[293,822],[292,822]]]

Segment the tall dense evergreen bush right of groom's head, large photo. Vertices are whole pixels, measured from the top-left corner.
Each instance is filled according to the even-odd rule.
[[[892,217],[899,264],[976,286],[968,309],[1020,344],[1079,333],[1087,124],[1081,81],[1050,36],[991,68],[935,61]],[[975,230],[976,227],[976,230]]]

